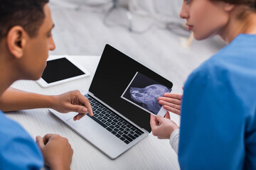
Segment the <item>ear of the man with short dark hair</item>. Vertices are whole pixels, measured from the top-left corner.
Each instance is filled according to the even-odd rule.
[[[14,26],[7,34],[7,45],[12,55],[16,58],[23,56],[23,50],[26,46],[28,35],[21,26]]]

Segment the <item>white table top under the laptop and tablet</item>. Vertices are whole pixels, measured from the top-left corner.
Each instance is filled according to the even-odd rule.
[[[61,94],[75,89],[86,92],[100,57],[73,56],[73,60],[85,67],[91,73],[90,77],[46,89],[41,88],[35,81],[16,81],[12,86],[39,94]],[[71,169],[179,169],[177,155],[171,149],[169,140],[158,140],[151,133],[132,149],[112,160],[55,118],[46,108],[16,111],[6,115],[20,123],[33,138],[47,133],[67,137],[74,150]]]

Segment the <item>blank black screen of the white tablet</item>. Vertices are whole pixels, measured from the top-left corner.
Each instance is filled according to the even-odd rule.
[[[46,69],[43,71],[42,79],[48,84],[71,77],[85,74],[65,57],[47,61]]]

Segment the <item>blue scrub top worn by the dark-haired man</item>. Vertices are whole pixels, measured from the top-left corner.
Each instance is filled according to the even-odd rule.
[[[41,169],[41,150],[21,125],[0,111],[0,169]]]

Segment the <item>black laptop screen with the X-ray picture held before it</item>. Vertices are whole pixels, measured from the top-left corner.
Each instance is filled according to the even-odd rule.
[[[151,132],[150,113],[173,84],[110,45],[105,46],[89,91],[132,122]]]

